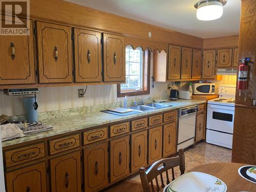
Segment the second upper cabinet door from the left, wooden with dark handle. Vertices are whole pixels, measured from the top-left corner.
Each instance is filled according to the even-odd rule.
[[[36,22],[39,82],[72,82],[71,28]]]

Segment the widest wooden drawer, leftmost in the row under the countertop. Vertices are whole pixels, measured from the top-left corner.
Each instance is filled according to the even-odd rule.
[[[6,167],[45,157],[45,144],[37,143],[5,152]]]

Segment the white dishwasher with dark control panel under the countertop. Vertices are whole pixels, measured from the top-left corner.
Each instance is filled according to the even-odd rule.
[[[177,152],[179,148],[186,148],[194,144],[197,111],[198,105],[188,106],[179,110]]]

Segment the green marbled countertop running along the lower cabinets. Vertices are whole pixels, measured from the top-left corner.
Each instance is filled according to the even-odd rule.
[[[91,128],[91,127],[102,125],[102,124],[122,121],[126,119],[141,117],[144,115],[150,115],[150,114],[160,113],[164,111],[179,109],[179,108],[184,108],[185,106],[200,104],[200,103],[205,103],[205,101],[182,100],[182,99],[179,99],[177,101],[166,101],[165,104],[172,105],[172,106],[169,106],[168,108],[156,109],[153,111],[145,111],[139,114],[129,115],[125,117],[107,114],[103,112],[94,112],[94,113],[62,116],[62,117],[56,117],[56,118],[40,119],[40,121],[44,124],[51,124],[54,127],[54,130],[21,137],[14,140],[5,141],[3,142],[3,147],[13,145],[13,144],[18,144],[18,143],[24,143],[24,142],[32,141],[36,139],[56,136],[59,134],[69,133],[73,131],[78,131],[82,129],[87,129],[87,128]]]

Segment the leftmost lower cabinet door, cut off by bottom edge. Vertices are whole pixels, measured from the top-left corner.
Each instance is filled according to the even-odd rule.
[[[6,188],[8,192],[46,192],[45,163],[31,165],[6,173]]]

